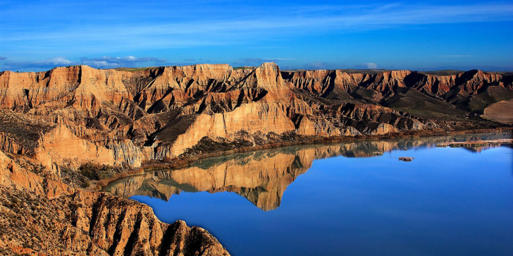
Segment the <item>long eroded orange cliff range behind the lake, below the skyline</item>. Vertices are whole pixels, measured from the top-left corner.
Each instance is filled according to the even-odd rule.
[[[0,72],[0,150],[48,168],[73,159],[140,166],[203,138],[261,145],[290,134],[381,136],[495,127],[486,106],[513,98],[513,76],[472,70],[281,71],[275,63]],[[490,112],[490,111],[488,111]],[[491,112],[490,112],[491,113]],[[487,115],[485,115],[486,117]]]

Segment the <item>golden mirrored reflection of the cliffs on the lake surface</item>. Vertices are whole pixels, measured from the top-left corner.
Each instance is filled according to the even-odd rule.
[[[188,168],[147,172],[117,180],[105,190],[131,197],[143,195],[169,200],[181,191],[237,193],[263,210],[280,206],[287,186],[304,174],[315,159],[334,156],[372,157],[376,152],[440,142],[504,138],[508,135],[459,135],[419,139],[361,141],[341,144],[289,146],[200,160]],[[510,135],[509,135],[510,136]]]

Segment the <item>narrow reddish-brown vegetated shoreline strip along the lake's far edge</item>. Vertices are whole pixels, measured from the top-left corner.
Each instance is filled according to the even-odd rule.
[[[369,135],[369,136],[337,136],[337,137],[303,137],[303,140],[297,141],[283,141],[280,143],[269,143],[256,146],[247,146],[236,148],[228,151],[217,151],[211,153],[205,153],[200,155],[188,156],[188,157],[174,157],[168,161],[163,160],[149,160],[143,162],[142,166],[136,169],[127,170],[126,172],[119,173],[107,179],[98,180],[95,182],[96,189],[93,191],[101,191],[108,184],[113,181],[130,177],[137,174],[143,174],[151,170],[162,170],[162,169],[178,169],[187,167],[195,161],[206,159],[209,157],[226,156],[236,153],[251,152],[258,150],[265,150],[269,148],[280,148],[292,145],[309,145],[309,144],[323,144],[323,143],[339,143],[339,142],[358,142],[358,141],[373,141],[373,140],[386,140],[386,139],[403,139],[403,138],[422,138],[432,136],[450,136],[450,135],[461,135],[461,134],[479,134],[479,133],[513,133],[513,127],[497,127],[492,129],[473,129],[473,130],[461,130],[461,131],[407,131],[407,133],[395,133],[395,134],[384,134],[384,135]],[[513,135],[513,134],[512,134]],[[306,140],[305,140],[306,139]]]

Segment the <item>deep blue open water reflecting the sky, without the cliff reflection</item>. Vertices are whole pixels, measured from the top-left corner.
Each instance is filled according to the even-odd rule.
[[[270,211],[229,192],[131,198],[165,222],[206,228],[234,255],[505,255],[512,152],[417,147],[314,160]]]

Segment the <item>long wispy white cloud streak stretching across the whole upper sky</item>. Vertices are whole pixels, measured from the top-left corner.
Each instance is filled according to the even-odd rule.
[[[124,23],[102,22],[86,26],[63,26],[46,33],[35,26],[19,31],[3,28],[0,41],[117,42],[122,47],[188,47],[240,44],[254,38],[277,38],[288,34],[322,31],[386,29],[402,25],[497,22],[513,20],[513,4],[468,5],[362,5],[308,6],[257,12],[227,10],[233,15],[144,23],[134,18]],[[2,12],[0,12],[1,14]],[[105,18],[104,18],[105,19]],[[0,19],[2,20],[2,19]],[[135,22],[135,23],[134,23]],[[48,30],[46,30],[48,31]]]

